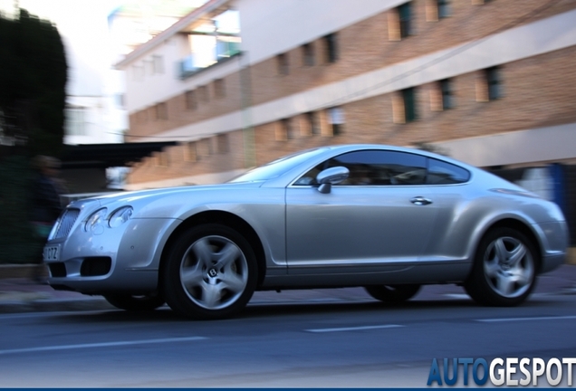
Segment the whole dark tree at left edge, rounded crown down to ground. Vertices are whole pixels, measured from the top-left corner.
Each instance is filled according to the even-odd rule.
[[[40,256],[29,224],[31,157],[62,150],[68,67],[56,27],[0,14],[0,262]]]

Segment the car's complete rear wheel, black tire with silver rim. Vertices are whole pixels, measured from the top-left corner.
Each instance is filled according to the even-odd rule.
[[[538,255],[526,236],[513,228],[495,228],[479,243],[464,288],[480,304],[516,306],[536,285],[537,262]]]

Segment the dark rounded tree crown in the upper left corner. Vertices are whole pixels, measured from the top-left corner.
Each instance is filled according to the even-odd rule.
[[[14,20],[0,15],[0,37],[0,133],[29,156],[58,156],[68,69],[60,33],[21,9]]]

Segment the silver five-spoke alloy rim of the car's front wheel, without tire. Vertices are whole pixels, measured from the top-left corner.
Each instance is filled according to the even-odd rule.
[[[180,262],[180,281],[188,298],[206,310],[229,307],[243,294],[248,262],[230,239],[209,235],[198,239]]]

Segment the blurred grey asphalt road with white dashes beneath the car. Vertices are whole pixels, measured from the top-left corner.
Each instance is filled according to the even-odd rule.
[[[560,292],[512,309],[457,294],[401,307],[253,300],[220,321],[168,309],[5,314],[0,378],[3,387],[426,387],[433,358],[576,357],[575,301]]]

